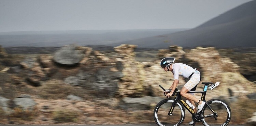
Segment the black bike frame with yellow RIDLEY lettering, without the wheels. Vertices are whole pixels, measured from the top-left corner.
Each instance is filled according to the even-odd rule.
[[[205,85],[205,86],[207,86],[207,85]],[[207,89],[207,88],[206,88],[206,89]],[[204,88],[204,90],[205,90],[205,88]],[[172,115],[173,109],[174,109],[176,103],[177,103],[178,100],[179,100],[179,101],[182,103],[182,105],[188,110],[188,112],[189,112],[191,115],[193,115],[194,117],[196,117],[198,120],[201,120],[201,119],[206,118],[206,117],[216,116],[216,113],[212,110],[212,108],[209,106],[209,104],[205,101],[206,92],[207,92],[207,91],[189,91],[189,92],[187,92],[187,93],[201,93],[201,94],[202,94],[202,96],[201,96],[201,101],[204,101],[204,102],[205,102],[205,105],[207,105],[207,106],[210,108],[210,110],[213,112],[213,114],[211,114],[211,115],[205,115],[205,116],[200,117],[199,114],[200,114],[201,112],[195,113],[195,112],[193,111],[193,109],[190,108],[190,107],[186,104],[186,102],[181,98],[180,91],[177,91],[177,94],[176,94],[175,97],[174,97],[174,101],[173,101],[173,103],[172,103],[172,106],[171,106],[171,109],[170,109],[168,115]]]

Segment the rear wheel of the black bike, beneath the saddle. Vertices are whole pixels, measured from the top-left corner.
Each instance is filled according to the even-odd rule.
[[[201,120],[204,126],[226,126],[230,122],[231,119],[231,109],[225,101],[220,99],[211,99],[207,101],[209,106],[213,109],[214,112],[218,113],[215,120],[214,117],[207,117]],[[201,112],[201,116],[212,114],[212,111],[209,109],[208,106],[204,106]]]

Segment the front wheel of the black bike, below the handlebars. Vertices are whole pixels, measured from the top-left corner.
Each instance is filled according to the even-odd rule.
[[[178,101],[172,115],[168,115],[173,99],[161,100],[154,109],[154,120],[158,126],[180,126],[185,119],[184,106]]]

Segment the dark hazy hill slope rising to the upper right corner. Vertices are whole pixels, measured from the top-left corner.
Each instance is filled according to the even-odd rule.
[[[141,48],[202,47],[256,47],[256,1],[242,4],[202,25],[176,33],[140,38],[123,43]]]

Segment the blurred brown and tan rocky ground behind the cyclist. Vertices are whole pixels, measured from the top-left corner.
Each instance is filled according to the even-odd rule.
[[[136,48],[123,44],[114,51],[99,51],[68,45],[33,54],[0,48],[0,124],[154,123],[154,107],[165,98],[158,85],[169,88],[173,81],[171,73],[159,66],[163,57],[198,68],[201,82],[219,81],[206,100],[227,101],[230,124],[255,123],[254,48],[242,52],[213,47]],[[185,82],[181,78],[178,88]],[[246,114],[241,117],[242,112]]]

